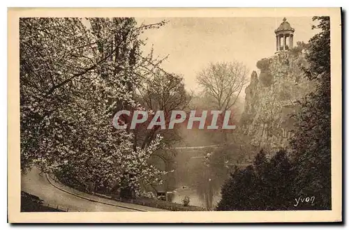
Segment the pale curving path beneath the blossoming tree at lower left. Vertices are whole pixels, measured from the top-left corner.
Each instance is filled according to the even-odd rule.
[[[64,189],[66,186],[57,185],[51,179],[48,181],[45,174],[42,174],[42,176],[39,174],[40,171],[33,168],[27,174],[22,175],[22,191],[34,194],[40,197],[40,199],[43,199],[46,204],[48,203],[52,206],[58,205],[60,208],[64,208],[64,210],[68,208],[69,211],[75,212],[164,211],[159,208],[113,201],[83,192],[79,192],[79,195],[70,194],[68,190]]]

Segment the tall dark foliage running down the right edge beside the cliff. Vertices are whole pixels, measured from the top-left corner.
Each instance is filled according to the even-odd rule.
[[[329,17],[313,17],[321,32],[309,40],[305,70],[317,88],[297,114],[295,137],[295,194],[316,197],[316,209],[331,209],[331,68]]]

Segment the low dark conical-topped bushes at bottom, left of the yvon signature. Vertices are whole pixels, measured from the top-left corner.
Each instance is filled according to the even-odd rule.
[[[290,187],[292,168],[285,151],[271,160],[265,152],[256,155],[253,165],[235,169],[222,187],[217,210],[288,210],[292,209]]]

